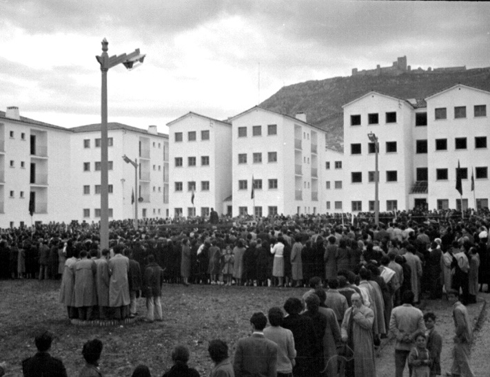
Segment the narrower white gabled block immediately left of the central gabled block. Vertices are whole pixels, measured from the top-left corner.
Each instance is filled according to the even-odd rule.
[[[232,195],[231,123],[190,112],[167,126],[170,216],[207,217],[210,208],[227,213],[224,202]]]

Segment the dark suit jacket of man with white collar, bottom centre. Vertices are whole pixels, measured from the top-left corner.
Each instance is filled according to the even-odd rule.
[[[238,341],[233,360],[235,377],[276,377],[276,365],[277,345],[264,334],[254,333]]]

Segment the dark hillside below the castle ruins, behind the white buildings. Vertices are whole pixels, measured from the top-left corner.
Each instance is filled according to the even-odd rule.
[[[426,98],[458,83],[490,91],[490,68],[454,73],[401,74],[400,76],[349,76],[306,81],[281,88],[261,107],[294,116],[303,111],[307,122],[331,132],[328,147],[343,144],[342,106],[371,90],[398,98]]]

